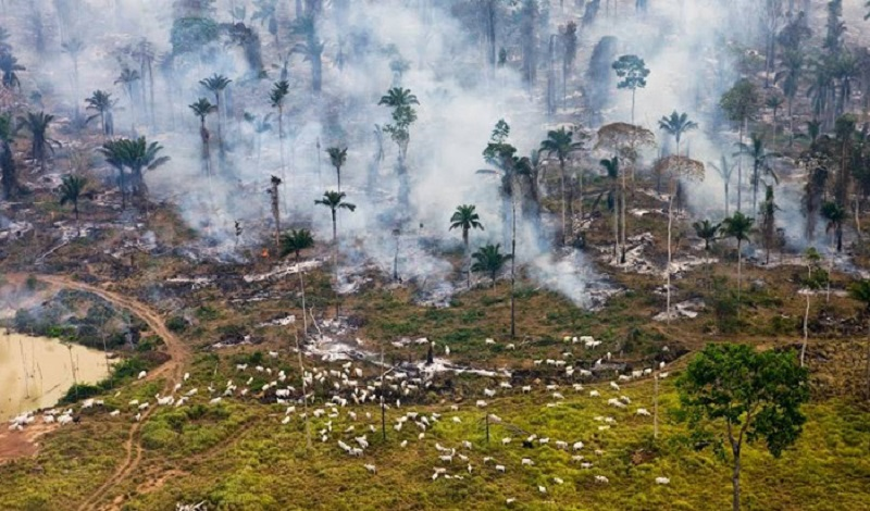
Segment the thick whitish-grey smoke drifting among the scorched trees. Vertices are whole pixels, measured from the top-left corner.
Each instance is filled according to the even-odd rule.
[[[348,147],[341,191],[347,194],[347,201],[357,205],[355,212],[341,210],[338,217],[340,250],[347,264],[371,262],[389,274],[398,239],[402,278],[426,283],[435,294],[453,292],[457,283],[463,281],[461,271],[439,253],[459,248],[459,233],[448,232],[448,219],[457,205],[464,203],[477,205],[486,227],[472,233],[472,246],[498,242],[502,250],[510,250],[502,236],[499,184],[475,173],[486,166],[482,150],[499,119],[510,123],[511,142],[522,155],[537,148],[546,134],[544,126],[556,120],[545,115],[543,87],[530,92],[511,65],[499,67],[492,75],[487,72],[483,35],[470,34],[469,25],[449,12],[457,2],[341,2],[348,4],[348,12],[341,16],[326,9],[315,25],[318,37],[325,45],[320,95],[311,91],[311,62],[290,51],[301,40],[291,36],[291,2],[277,2],[279,42],[265,29],[268,23],[261,27],[246,20],[260,34],[263,70],[251,68],[250,48],[234,43],[227,35],[228,1],[216,3],[215,18],[223,24],[222,36],[211,50],[174,60],[167,59],[172,1],[75,3],[73,18],[55,23],[64,29],[47,30],[52,51],[42,55],[36,55],[26,43],[32,37],[25,28],[30,10],[21,2],[11,8],[13,45],[28,66],[25,88],[42,91],[47,110],[65,112],[72,112],[74,104],[84,110],[84,97],[95,89],[112,91],[119,99],[114,112],[116,134],[146,135],[149,140],[159,141],[172,158],[146,174],[150,191],[158,200],[177,204],[186,223],[212,248],[233,252],[268,239],[273,226],[266,189],[273,175],[283,180],[282,226],[312,228],[319,241],[328,240],[330,211],[314,201],[325,190],[337,188],[335,170],[325,154],[327,147],[336,146]],[[232,3],[247,5],[249,16],[253,10],[250,2]],[[658,135],[658,119],[673,110],[688,112],[701,127],[686,136],[683,147],[694,159],[718,162],[720,154],[730,157],[735,151],[736,137],[717,119],[717,103],[737,77],[731,48],[758,36],[757,17],[753,17],[756,3],[657,1],[651,2],[647,15],[636,16],[626,12],[627,3],[622,2],[619,17],[605,17],[599,12],[597,22],[581,30],[576,75],[585,75],[587,58],[583,55],[588,55],[601,37],[616,36],[618,54],[636,53],[651,70],[647,87],[637,91],[636,123]],[[44,18],[54,20],[48,16],[53,9],[47,2],[39,5]],[[512,15],[501,16],[499,30],[507,29]],[[539,27],[542,50],[549,35],[557,33],[557,26],[569,17],[570,12],[550,9],[548,25]],[[77,86],[70,55],[53,51],[61,42],[59,33],[77,34],[86,42],[78,57]],[[515,37],[499,33],[499,46],[507,47],[510,60],[519,52],[511,43]],[[142,104],[138,98],[142,96],[140,87],[148,87],[149,80],[135,84],[133,101],[115,84],[124,65],[140,71],[140,61],[121,49],[142,39],[154,48],[157,99],[153,112],[148,114],[150,100],[146,96]],[[258,77],[261,71],[268,78]],[[187,105],[200,97],[215,101],[199,85],[200,79],[215,73],[226,75],[233,83],[222,99],[224,111],[207,119],[213,171],[207,176],[201,164],[199,120]],[[289,82],[290,95],[284,104],[282,139],[277,109],[270,105],[269,91],[275,80],[284,77]],[[386,134],[382,142],[375,135],[375,125],[390,122],[389,110],[377,102],[393,86],[409,88],[420,100],[406,162],[411,183],[407,208],[397,200],[396,145]],[[614,109],[602,113],[604,122],[627,122],[631,94],[614,90],[611,98],[616,100]],[[246,113],[260,121],[271,115],[271,129],[258,134],[254,123],[244,120]],[[217,142],[219,119],[223,121],[220,132],[226,148],[223,160]],[[575,123],[580,119],[563,121]],[[663,137],[659,137],[662,146],[670,144]],[[377,158],[382,150],[383,160]],[[646,163],[656,155],[657,151],[645,154]],[[746,179],[746,164],[744,167]],[[733,201],[734,186],[732,190]],[[788,197],[780,199],[783,210],[783,202],[792,200]],[[689,201],[700,214],[721,216],[722,184],[718,175],[708,170],[704,184],[693,187]],[[549,224],[520,222],[519,262],[527,265],[529,274],[543,285],[579,304],[588,304],[587,285],[598,277],[577,271],[589,265],[576,251],[551,254],[549,240],[555,229],[548,228]],[[785,227],[793,227],[792,220]],[[399,229],[398,236],[394,229]]]

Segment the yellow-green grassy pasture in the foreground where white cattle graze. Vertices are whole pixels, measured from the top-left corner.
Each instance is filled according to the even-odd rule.
[[[686,429],[674,420],[678,407],[674,374],[660,386],[661,426],[652,439],[652,420],[638,416],[638,407],[652,409],[652,386],[637,381],[617,392],[605,384],[587,385],[583,391],[569,386],[559,390],[564,400],[545,391],[544,383],[531,395],[519,388],[502,390],[490,400],[487,411],[502,419],[490,425],[490,441],[485,441],[484,413],[474,407],[480,395],[458,404],[449,394],[418,399],[421,404],[403,404],[387,412],[387,440],[368,432],[380,427],[376,406],[349,406],[338,416],[311,420],[313,445],[306,448],[304,423],[299,412],[281,424],[284,406],[265,404],[254,396],[225,399],[209,404],[204,387],[223,388],[226,379],[237,382],[253,375],[251,388],[265,377],[249,370],[240,375],[235,361],[244,356],[202,356],[195,364],[192,378],[185,389],[197,386],[200,395],[182,409],[160,409],[149,417],[141,433],[144,460],[136,474],[110,494],[117,509],[173,509],[176,502],[206,500],[213,509],[505,509],[506,499],[515,498],[514,509],[725,509],[730,503],[728,463],[709,450],[695,451],[686,440]],[[215,362],[217,362],[215,364]],[[283,367],[289,378],[291,359],[272,361],[268,366]],[[216,370],[215,370],[216,367]],[[679,370],[678,370],[679,371]],[[374,377],[366,374],[366,378]],[[290,383],[290,382],[288,382]],[[482,384],[486,384],[483,382]],[[495,382],[487,385],[495,386]],[[126,402],[148,399],[159,383],[133,385],[117,397],[107,398],[107,408],[125,412],[110,417],[95,412],[77,426],[67,426],[46,437],[34,459],[24,459],[0,468],[0,509],[69,509],[89,495],[108,476],[121,454],[125,431],[132,417]],[[589,397],[598,389],[601,397]],[[315,408],[323,408],[324,391],[319,391]],[[607,406],[610,397],[627,396],[626,410]],[[423,402],[425,401],[425,402]],[[556,403],[558,406],[548,406]],[[440,413],[420,440],[420,431],[406,423],[401,432],[393,428],[397,417],[408,411]],[[353,411],[358,420],[350,419]],[[862,509],[868,502],[870,483],[870,421],[865,411],[842,398],[816,400],[806,407],[808,423],[800,440],[782,459],[749,448],[744,454],[744,503],[758,510],[843,510]],[[365,413],[371,414],[366,419]],[[453,417],[461,422],[455,422]],[[610,416],[610,428],[599,431]],[[322,443],[319,431],[332,422],[332,433]],[[350,425],[351,433],[344,433]],[[368,435],[371,447],[362,458],[350,458],[338,447],[341,439]],[[550,444],[522,446],[527,435],[549,437]],[[511,437],[504,446],[501,439]],[[407,440],[407,447],[400,443]],[[462,440],[473,449],[462,448]],[[562,451],[557,440],[572,445],[583,441],[579,452]],[[438,460],[435,444],[469,457],[456,457],[452,463]],[[602,452],[596,454],[596,450]],[[591,469],[572,461],[582,454]],[[493,457],[506,466],[504,474],[494,469]],[[534,461],[523,466],[522,458]],[[377,466],[371,475],[364,463]],[[432,481],[434,466],[444,466],[462,479]],[[595,475],[608,477],[597,484]],[[656,485],[658,476],[670,477],[670,485]],[[556,484],[554,477],[563,479]],[[538,491],[545,486],[547,493]]]

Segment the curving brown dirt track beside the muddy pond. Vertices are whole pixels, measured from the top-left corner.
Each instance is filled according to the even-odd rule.
[[[69,289],[76,289],[79,291],[91,292],[103,298],[112,304],[126,309],[133,314],[141,319],[148,327],[159,335],[166,346],[166,351],[170,360],[162,364],[160,367],[152,371],[146,377],[146,381],[153,381],[160,377],[165,377],[166,383],[163,386],[162,394],[169,394],[176,383],[181,382],[184,377],[184,367],[190,357],[190,350],[184,345],[175,335],[166,328],[163,319],[160,314],[150,307],[123,295],[105,290],[103,288],[84,284],[73,281],[67,277],[58,275],[40,275],[39,281],[51,284],[57,287],[65,287]],[[99,487],[94,494],[90,495],[78,507],[80,511],[96,508],[97,503],[102,499],[105,494],[120,482],[129,477],[133,472],[138,468],[142,458],[142,447],[139,441],[140,429],[142,423],[147,421],[148,416],[153,412],[157,407],[151,407],[141,417],[141,421],[136,422],[130,426],[127,440],[124,443],[125,457],[121,465],[115,472]]]

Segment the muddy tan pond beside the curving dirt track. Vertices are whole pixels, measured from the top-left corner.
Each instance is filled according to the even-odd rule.
[[[73,385],[73,369],[79,384],[109,374],[102,351],[71,346],[72,351],[58,339],[0,332],[0,421],[54,406]]]

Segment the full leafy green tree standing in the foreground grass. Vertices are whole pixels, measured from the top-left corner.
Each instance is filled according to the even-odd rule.
[[[744,441],[762,440],[774,458],[797,441],[806,422],[800,407],[809,400],[809,372],[792,351],[711,344],[689,362],[678,388],[693,432],[709,437],[708,428],[724,423],[726,433],[713,445],[721,451],[728,440],[731,447],[732,508],[738,511]]]

